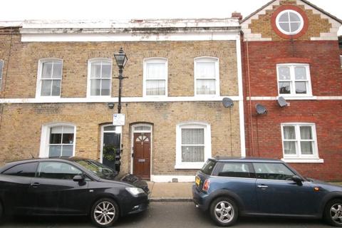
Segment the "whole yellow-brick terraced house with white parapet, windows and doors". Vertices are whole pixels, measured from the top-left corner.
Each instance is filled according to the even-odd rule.
[[[125,125],[113,125],[120,48]],[[115,167],[122,150],[120,172],[193,181],[207,157],[244,155],[240,53],[237,18],[2,23],[0,160]]]

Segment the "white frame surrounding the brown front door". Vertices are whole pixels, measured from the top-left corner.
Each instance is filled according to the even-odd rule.
[[[136,130],[136,127],[149,127],[150,130]],[[153,136],[152,136],[152,130],[153,125],[150,123],[135,123],[130,126],[131,128],[131,140],[130,140],[130,174],[133,174],[133,166],[134,166],[134,157],[132,156],[134,153],[134,133],[150,133],[150,178],[152,175],[152,142],[153,142]]]

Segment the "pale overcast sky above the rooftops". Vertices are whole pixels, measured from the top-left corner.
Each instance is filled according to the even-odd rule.
[[[342,0],[309,0],[342,19]],[[2,0],[0,21],[227,18],[269,0]],[[11,9],[11,10],[4,10]],[[342,28],[339,31],[342,35]]]

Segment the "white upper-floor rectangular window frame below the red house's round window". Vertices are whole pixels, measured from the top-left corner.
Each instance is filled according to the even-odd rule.
[[[290,80],[280,80],[279,79],[279,68],[281,67],[289,67],[290,68]],[[296,67],[304,67],[306,71],[306,80],[296,80],[294,68]],[[307,63],[280,63],[276,64],[276,81],[278,88],[278,95],[284,97],[312,97],[312,89],[311,89],[311,73],[310,73],[310,65]],[[290,90],[291,93],[279,93],[279,82],[281,81],[290,81]],[[296,93],[296,81],[306,81],[306,93]]]

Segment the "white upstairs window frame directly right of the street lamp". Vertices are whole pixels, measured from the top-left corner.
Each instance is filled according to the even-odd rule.
[[[143,74],[142,74],[142,96],[144,97],[167,97],[167,78],[168,78],[168,63],[167,63],[167,58],[160,58],[160,57],[155,57],[155,58],[145,58],[144,59],[144,66],[143,66]],[[147,95],[146,93],[146,81],[147,81],[147,63],[165,63],[165,78],[154,78],[154,80],[165,80],[165,95]]]

